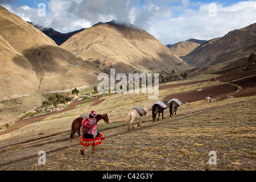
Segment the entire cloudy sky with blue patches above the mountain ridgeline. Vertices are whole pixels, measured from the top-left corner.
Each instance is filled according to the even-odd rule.
[[[164,45],[210,40],[256,23],[256,1],[211,0],[0,0],[20,18],[61,33],[98,22],[129,22]]]

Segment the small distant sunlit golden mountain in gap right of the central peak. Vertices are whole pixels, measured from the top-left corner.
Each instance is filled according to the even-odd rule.
[[[206,40],[189,39],[189,40],[186,40],[183,42],[176,43],[174,45],[169,44],[167,47],[172,52],[174,52],[175,55],[185,56],[205,42],[206,42]]]

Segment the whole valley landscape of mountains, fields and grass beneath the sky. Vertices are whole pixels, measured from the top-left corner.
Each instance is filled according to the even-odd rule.
[[[221,38],[164,46],[118,20],[61,34],[0,6],[0,170],[255,171],[255,38],[256,23]],[[98,75],[111,77],[111,69],[159,73],[151,80],[159,81],[158,98],[98,93]],[[151,105],[173,98],[183,103],[177,115],[167,109],[153,122]],[[128,131],[134,106],[148,117]],[[88,147],[83,156],[79,135],[69,135],[73,120],[91,110],[110,122],[98,122],[106,139],[96,154]],[[46,164],[39,162],[42,151]],[[209,163],[212,151],[216,164]]]

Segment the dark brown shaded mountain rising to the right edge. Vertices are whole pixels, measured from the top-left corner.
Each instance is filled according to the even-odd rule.
[[[256,23],[230,31],[222,38],[209,40],[181,59],[195,67],[202,67],[233,62],[253,52],[256,52]]]

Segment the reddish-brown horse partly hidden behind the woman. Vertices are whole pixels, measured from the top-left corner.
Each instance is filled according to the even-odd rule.
[[[97,119],[96,122],[103,119],[106,123],[109,123],[108,114],[98,114],[95,118]],[[79,118],[76,118],[73,121],[72,126],[71,126],[70,139],[74,138],[74,135],[75,135],[76,132],[77,132],[77,134],[79,134],[79,136],[81,136],[80,129],[81,129],[81,126],[82,126],[82,120],[83,119],[84,119],[83,117],[79,117]]]

